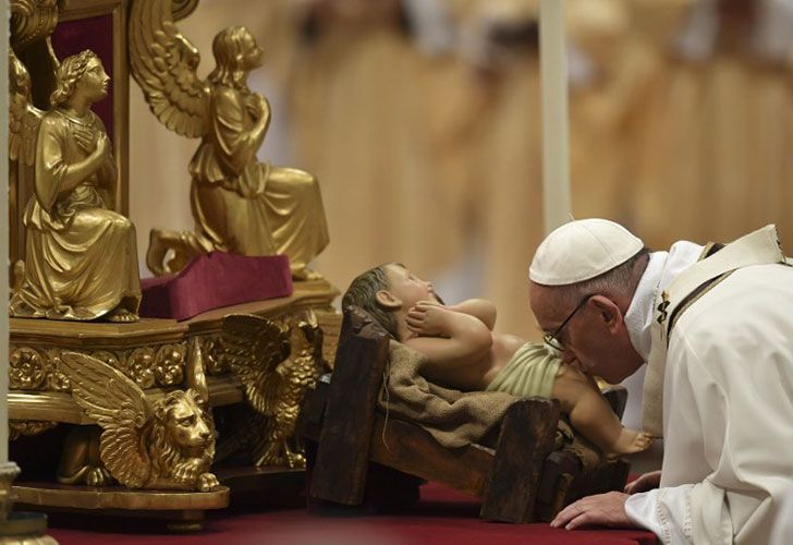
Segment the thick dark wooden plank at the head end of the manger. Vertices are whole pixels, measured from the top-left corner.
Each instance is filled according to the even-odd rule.
[[[389,358],[389,338],[370,326],[344,313],[312,473],[310,495],[318,499],[359,505],[364,497],[375,407]]]

